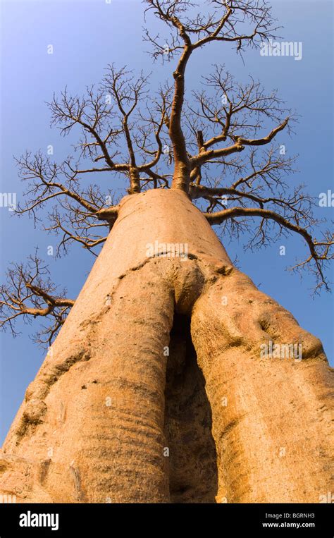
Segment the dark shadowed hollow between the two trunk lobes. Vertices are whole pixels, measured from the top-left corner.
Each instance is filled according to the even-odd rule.
[[[218,476],[211,408],[185,315],[175,313],[169,353],[164,429],[171,502],[214,503]]]

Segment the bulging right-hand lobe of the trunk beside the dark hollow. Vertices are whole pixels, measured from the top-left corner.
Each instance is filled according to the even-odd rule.
[[[333,372],[318,338],[233,271],[196,302],[192,339],[212,409],[217,501],[318,503],[333,491]],[[270,343],[283,357],[261,357]],[[285,353],[291,343],[301,356]]]

